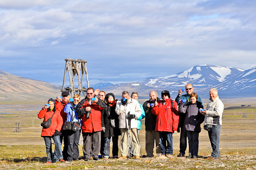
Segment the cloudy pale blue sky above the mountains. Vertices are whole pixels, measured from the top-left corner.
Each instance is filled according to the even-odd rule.
[[[0,70],[62,85],[66,58],[89,80],[135,82],[194,65],[256,66],[256,1],[0,1]]]

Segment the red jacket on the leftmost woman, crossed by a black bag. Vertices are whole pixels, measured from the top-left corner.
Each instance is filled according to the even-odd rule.
[[[43,119],[44,121],[48,121],[49,118],[52,117],[52,114],[54,112],[55,108],[52,111],[49,111],[49,109],[44,110],[42,109],[39,114],[38,118]],[[60,116],[60,111],[55,110],[55,114],[52,117],[51,126],[48,128],[43,128],[41,136],[52,136],[55,133],[55,130],[60,131],[61,127],[63,125],[63,120]]]

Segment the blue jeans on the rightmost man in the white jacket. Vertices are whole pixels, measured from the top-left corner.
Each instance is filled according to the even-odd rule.
[[[208,131],[210,145],[212,146],[212,157],[220,157],[220,130],[221,125],[213,125],[212,131]]]

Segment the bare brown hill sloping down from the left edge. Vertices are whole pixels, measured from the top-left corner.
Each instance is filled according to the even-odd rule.
[[[0,71],[0,100],[42,101],[60,96],[61,87]]]

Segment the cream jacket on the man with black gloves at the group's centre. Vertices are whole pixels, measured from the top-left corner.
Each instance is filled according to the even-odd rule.
[[[127,104],[122,105],[121,100],[117,101],[117,106],[115,107],[115,113],[119,115],[119,128],[127,128],[128,119],[127,114],[134,114],[135,118],[131,119],[131,128],[137,128],[137,119],[141,116],[142,110],[139,106],[139,102],[130,97]]]

